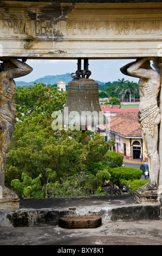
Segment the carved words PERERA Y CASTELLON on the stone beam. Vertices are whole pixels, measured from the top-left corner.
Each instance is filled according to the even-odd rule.
[[[160,21],[67,21],[70,35],[147,35],[161,34]]]

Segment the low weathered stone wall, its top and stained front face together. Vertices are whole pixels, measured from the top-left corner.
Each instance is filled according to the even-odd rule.
[[[92,205],[92,202],[89,202],[91,201],[89,197],[27,199],[27,203],[24,203],[27,208],[24,207],[20,210],[0,211],[0,227],[58,225],[59,218],[67,216],[100,216],[103,222],[146,221],[160,220],[161,218],[160,204],[134,204],[133,196],[105,196],[102,200],[100,197],[93,197],[93,201],[94,198],[96,202],[98,202],[95,203],[95,206]],[[87,199],[88,202],[86,202]],[[61,200],[63,200],[64,205],[62,205],[62,207],[55,205],[54,207],[54,204],[59,205]],[[116,200],[118,203],[115,202]],[[42,205],[42,208],[30,208],[30,206],[33,205],[33,202],[36,202],[38,206],[41,201],[45,203],[46,208],[44,208],[44,205]],[[66,205],[65,201],[69,202],[69,206]],[[70,203],[72,201],[74,202],[73,204]]]

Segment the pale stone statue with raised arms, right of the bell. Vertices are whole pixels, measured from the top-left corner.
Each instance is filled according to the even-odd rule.
[[[160,123],[160,109],[157,96],[160,90],[161,76],[151,68],[148,58],[137,59],[122,67],[125,75],[139,77],[139,113],[138,123],[149,158],[150,180],[140,190],[157,190],[160,168],[158,145],[158,124]]]

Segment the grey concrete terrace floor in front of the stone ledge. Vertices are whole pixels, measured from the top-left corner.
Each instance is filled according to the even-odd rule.
[[[94,229],[0,228],[0,245],[162,245],[161,221],[103,222]]]

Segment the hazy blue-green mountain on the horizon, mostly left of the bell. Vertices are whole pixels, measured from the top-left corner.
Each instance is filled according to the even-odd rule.
[[[41,83],[43,82],[43,84],[51,84],[51,86],[53,86],[53,84],[57,84],[57,82],[63,81],[66,82],[66,86],[68,85],[68,82],[72,81],[72,77],[70,76],[70,73],[64,74],[64,75],[56,75],[56,76],[44,76],[44,77],[40,77],[35,81],[32,82],[23,82],[23,81],[15,81],[16,86],[33,86],[34,83]],[[100,81],[96,81],[99,84],[105,84],[104,82],[100,82]]]

